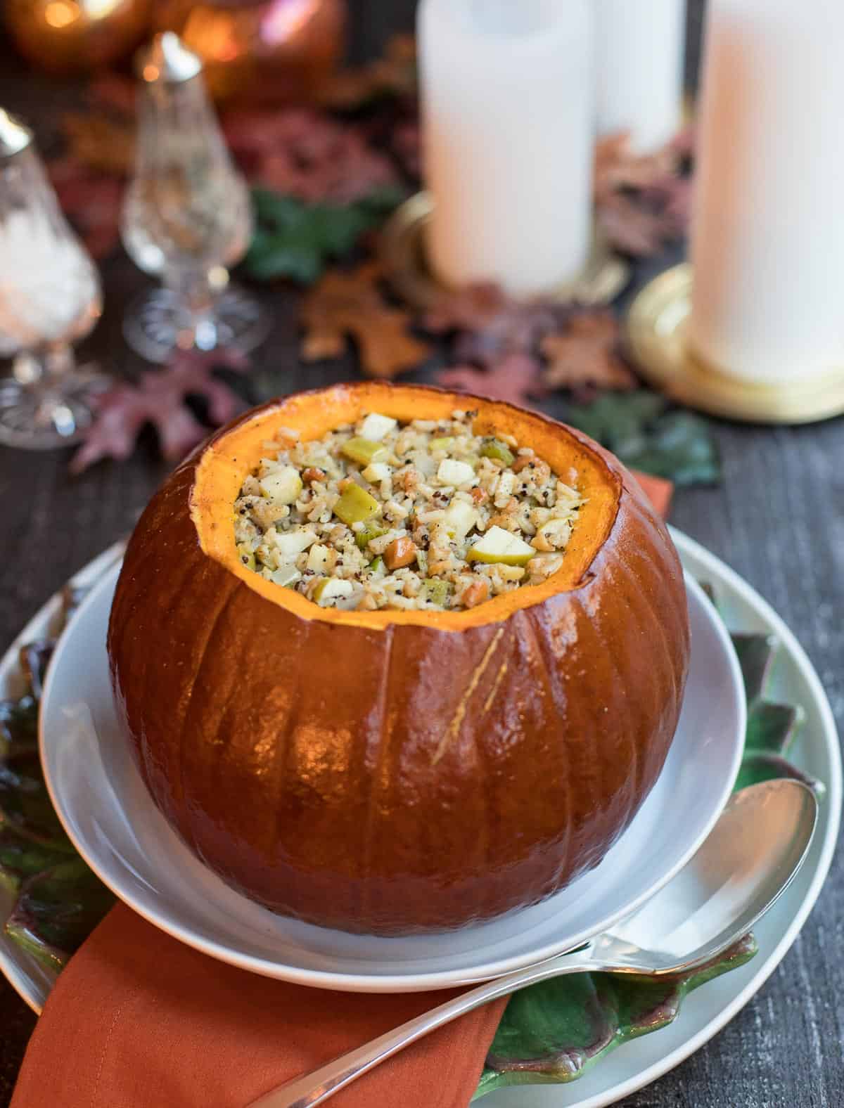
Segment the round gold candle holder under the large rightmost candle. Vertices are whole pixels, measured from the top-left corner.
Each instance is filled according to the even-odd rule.
[[[675,266],[635,297],[627,318],[629,351],[644,377],[679,403],[748,423],[814,423],[844,412],[840,370],[802,381],[760,384],[708,366],[689,348],[692,267]]]

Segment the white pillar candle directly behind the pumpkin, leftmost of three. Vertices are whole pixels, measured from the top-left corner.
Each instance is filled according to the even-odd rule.
[[[592,224],[588,0],[421,0],[419,63],[436,275],[516,296],[576,277]]]

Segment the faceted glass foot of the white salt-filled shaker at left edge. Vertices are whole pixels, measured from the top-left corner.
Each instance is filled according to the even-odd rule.
[[[110,383],[92,368],[31,383],[0,378],[0,443],[54,450],[79,442],[93,420],[93,393]]]

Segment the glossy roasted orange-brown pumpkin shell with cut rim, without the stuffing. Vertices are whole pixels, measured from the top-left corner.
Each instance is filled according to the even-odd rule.
[[[578,468],[589,503],[549,582],[363,614],[240,565],[233,503],[274,428],[469,404],[480,433]],[[668,753],[689,626],[668,532],[586,435],[366,382],[247,413],[173,473],[129,544],[108,646],[146,784],[207,865],[279,913],[400,934],[535,903],[603,858]]]

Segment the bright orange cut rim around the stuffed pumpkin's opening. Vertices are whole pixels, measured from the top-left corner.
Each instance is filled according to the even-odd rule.
[[[521,445],[532,447],[562,480],[572,466],[578,469],[578,488],[584,503],[562,566],[546,582],[504,593],[462,611],[382,608],[347,612],[319,607],[299,593],[266,581],[243,565],[235,545],[234,502],[244,478],[265,453],[264,443],[279,428],[294,428],[304,439],[315,439],[342,423],[354,423],[370,411],[406,422],[441,419],[455,409],[477,410],[472,421],[476,432],[489,434],[500,430],[513,434]],[[591,579],[590,567],[612,531],[622,493],[621,478],[606,459],[570,428],[547,416],[469,393],[376,381],[339,384],[271,401],[214,435],[201,448],[195,466],[191,519],[207,557],[264,599],[302,619],[378,630],[414,624],[459,632],[500,623],[553,595],[574,592]]]

